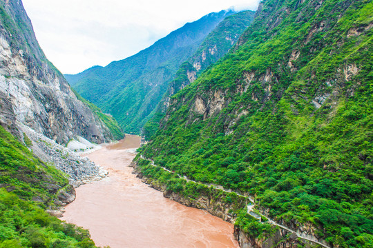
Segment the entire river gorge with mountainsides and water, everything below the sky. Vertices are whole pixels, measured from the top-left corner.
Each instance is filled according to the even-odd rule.
[[[75,75],[0,14],[0,248],[372,247],[371,0],[222,10]]]

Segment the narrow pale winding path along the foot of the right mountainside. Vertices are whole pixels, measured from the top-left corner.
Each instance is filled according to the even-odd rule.
[[[169,169],[167,169],[165,167],[155,165],[154,161],[152,161],[150,158],[144,158],[144,156],[142,156],[142,154],[140,154],[140,158],[142,158],[142,159],[144,159],[146,161],[150,161],[151,165],[154,166],[154,167],[160,167],[160,168],[164,169],[164,171],[166,171],[166,172],[174,173],[174,172],[171,172]],[[251,203],[254,203],[254,205],[247,205],[247,214],[250,214],[251,216],[253,216],[254,218],[256,218],[256,219],[258,219],[260,221],[260,218],[257,218],[257,216],[254,216],[253,214],[251,214],[251,212],[254,210],[254,207],[255,207],[254,198],[252,198],[251,196],[244,196],[242,194],[239,194],[238,192],[232,191],[231,189],[224,189],[224,187],[222,187],[222,185],[200,183],[200,182],[196,182],[195,180],[191,180],[191,179],[187,178],[187,176],[180,176],[179,174],[178,174],[178,176],[179,176],[179,178],[187,180],[187,182],[193,182],[193,183],[197,183],[197,184],[204,185],[204,186],[207,186],[207,187],[213,187],[215,189],[220,189],[223,192],[227,192],[227,193],[233,192],[233,193],[237,194],[238,196],[242,196],[242,197],[245,197],[245,198],[249,199],[251,201]],[[291,233],[296,234],[296,236],[298,238],[314,242],[314,243],[316,243],[318,245],[321,245],[322,247],[325,247],[325,248],[332,248],[332,247],[329,247],[328,245],[325,245],[325,243],[318,241],[314,236],[310,236],[310,235],[306,236],[305,234],[300,234],[299,231],[294,231],[294,230],[290,229],[289,227],[285,227],[283,225],[280,225],[280,224],[276,223],[276,221],[272,220],[268,216],[265,216],[263,214],[262,214],[262,216],[264,216],[265,218],[267,218],[267,222],[269,224],[275,225],[276,227],[280,227],[281,229],[285,229],[287,231],[290,231]]]

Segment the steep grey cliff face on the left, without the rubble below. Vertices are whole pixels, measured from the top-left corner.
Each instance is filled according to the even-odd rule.
[[[75,136],[110,141],[108,128],[46,59],[21,1],[0,0],[0,11],[1,125],[17,135],[22,123],[59,144]]]

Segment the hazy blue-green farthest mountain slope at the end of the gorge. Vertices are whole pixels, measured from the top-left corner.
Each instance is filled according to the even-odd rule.
[[[167,83],[213,28],[233,11],[211,13],[171,32],[151,47],[106,67],[65,75],[84,98],[112,114],[125,132],[139,133]]]

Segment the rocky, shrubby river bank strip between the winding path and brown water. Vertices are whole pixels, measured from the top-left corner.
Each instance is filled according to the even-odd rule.
[[[155,165],[138,154],[130,165],[144,183],[163,192],[164,197],[198,209],[235,224],[234,236],[242,248],[326,247],[309,225],[285,227],[268,217],[268,209],[255,213],[254,198],[232,192],[220,185],[204,184]],[[247,205],[247,203],[250,203]],[[293,229],[291,229],[293,228]],[[316,245],[316,246],[315,246]]]

